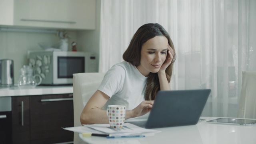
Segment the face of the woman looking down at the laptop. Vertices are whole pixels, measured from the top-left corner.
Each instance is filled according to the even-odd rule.
[[[140,73],[148,76],[150,72],[160,70],[167,56],[168,39],[165,36],[155,36],[146,41],[141,48],[140,65],[137,66]]]

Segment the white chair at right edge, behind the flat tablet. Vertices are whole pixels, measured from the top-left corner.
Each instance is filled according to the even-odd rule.
[[[242,72],[238,118],[256,118],[256,71]]]

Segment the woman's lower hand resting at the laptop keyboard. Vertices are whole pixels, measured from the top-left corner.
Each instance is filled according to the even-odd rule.
[[[150,112],[153,104],[154,100],[144,100],[132,110],[132,114],[134,117],[143,116],[144,114]]]

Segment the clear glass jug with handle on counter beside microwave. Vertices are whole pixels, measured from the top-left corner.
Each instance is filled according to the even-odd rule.
[[[30,66],[23,66],[20,69],[20,78],[18,79],[19,88],[35,88],[42,82],[42,77],[39,74],[33,74],[33,69]],[[36,82],[36,77],[39,78],[39,82]]]

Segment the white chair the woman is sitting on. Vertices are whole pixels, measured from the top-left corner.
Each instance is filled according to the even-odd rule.
[[[105,73],[78,73],[73,74],[73,103],[74,103],[74,126],[82,126],[80,115],[84,106],[96,92],[102,82]],[[74,144],[83,144],[78,133],[74,132]]]

